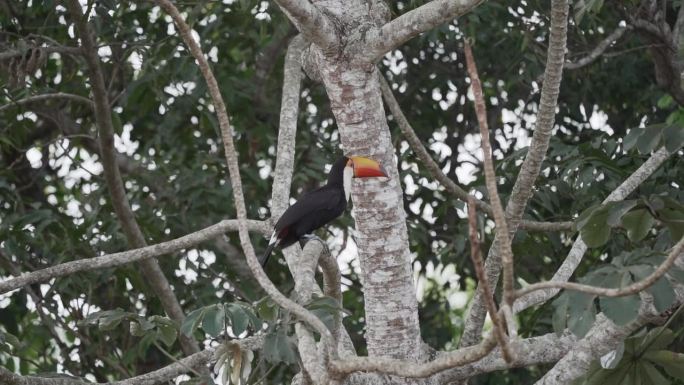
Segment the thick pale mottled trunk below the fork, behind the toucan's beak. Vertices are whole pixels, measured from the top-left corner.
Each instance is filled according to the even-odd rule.
[[[352,214],[359,250],[369,355],[419,359],[421,338],[406,214],[373,66],[321,60],[320,75],[347,155],[382,162],[389,178],[356,180]]]

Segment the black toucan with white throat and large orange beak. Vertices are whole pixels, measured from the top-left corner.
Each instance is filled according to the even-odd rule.
[[[261,258],[266,265],[273,249],[313,237],[312,232],[342,215],[351,194],[352,178],[387,177],[376,161],[361,156],[342,156],[333,164],[328,183],[302,195],[276,222],[268,247]]]

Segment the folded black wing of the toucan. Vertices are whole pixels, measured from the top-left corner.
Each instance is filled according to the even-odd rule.
[[[275,231],[281,234],[287,229],[288,232],[295,231],[297,234],[292,235],[300,237],[337,218],[346,207],[347,202],[341,189],[323,186],[304,194],[288,207],[278,219]]]

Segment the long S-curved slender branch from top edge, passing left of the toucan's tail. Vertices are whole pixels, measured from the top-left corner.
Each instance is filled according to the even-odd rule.
[[[171,18],[173,18],[176,26],[178,27],[180,35],[183,38],[183,41],[188,46],[192,56],[195,58],[195,60],[197,60],[200,72],[207,82],[207,88],[214,102],[214,107],[216,108],[216,113],[218,115],[221,138],[223,140],[223,148],[233,190],[233,199],[235,201],[235,211],[237,212],[238,217],[240,245],[245,252],[247,264],[252,270],[252,274],[254,274],[257,282],[259,282],[259,285],[264,288],[264,291],[271,296],[275,303],[289,310],[298,316],[302,321],[311,325],[321,335],[321,339],[324,342],[323,345],[325,348],[325,354],[323,356],[327,363],[331,353],[330,347],[332,346],[332,335],[330,331],[325,324],[318,319],[318,317],[306,310],[304,307],[287,298],[278,290],[278,288],[275,287],[273,282],[269,280],[268,276],[262,269],[261,264],[256,257],[256,253],[254,252],[254,246],[252,245],[252,242],[249,239],[249,233],[247,232],[247,208],[245,206],[245,197],[242,193],[242,180],[240,179],[238,155],[237,151],[235,150],[235,143],[233,142],[233,130],[230,126],[226,105],[223,102],[223,97],[219,91],[216,78],[209,67],[209,62],[204,57],[199,43],[197,43],[192,36],[190,27],[185,22],[178,9],[169,0],[155,0],[155,2],[162,9],[164,9],[164,11],[167,12]]]

